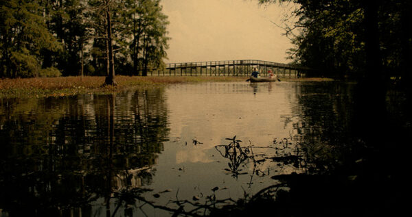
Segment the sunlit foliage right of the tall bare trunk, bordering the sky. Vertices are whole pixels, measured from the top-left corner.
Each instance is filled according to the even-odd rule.
[[[124,64],[130,68],[131,75],[147,75],[148,70],[164,65],[170,39],[166,36],[168,16],[161,12],[159,0],[128,0],[124,5],[126,8],[119,11],[122,19],[117,22],[121,25],[115,25],[115,34],[119,47],[124,45],[127,49],[120,49],[119,55],[124,60],[132,60]]]

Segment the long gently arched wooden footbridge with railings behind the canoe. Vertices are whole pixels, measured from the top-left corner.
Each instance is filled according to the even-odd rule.
[[[305,75],[309,68],[262,60],[229,60],[208,62],[182,62],[166,64],[163,71],[152,71],[159,76],[247,76],[257,67],[260,73],[273,71],[281,77]]]

